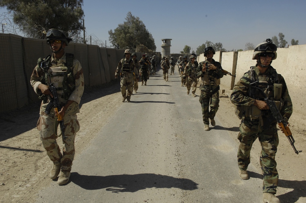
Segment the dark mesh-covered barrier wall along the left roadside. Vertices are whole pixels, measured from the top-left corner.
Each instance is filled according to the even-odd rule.
[[[46,40],[0,33],[0,47],[0,112],[39,101],[30,78],[37,59],[52,53]],[[124,56],[124,50],[80,43],[69,43],[65,51],[80,61],[85,89],[115,79],[117,65]],[[138,60],[142,54],[137,53]]]

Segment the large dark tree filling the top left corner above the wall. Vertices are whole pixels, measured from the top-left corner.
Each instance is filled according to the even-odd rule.
[[[28,37],[45,38],[51,28],[80,35],[83,29],[83,0],[2,0],[0,7],[13,11],[13,21]]]

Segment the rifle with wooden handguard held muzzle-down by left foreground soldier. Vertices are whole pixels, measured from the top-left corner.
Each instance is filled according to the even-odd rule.
[[[57,114],[57,118],[58,118],[58,122],[60,124],[60,128],[61,128],[61,135],[63,137],[63,139],[66,138],[65,136],[65,125],[64,125],[64,119],[63,117],[58,113],[58,111],[60,111],[62,109],[60,103],[59,103],[59,100],[58,100],[58,94],[57,94],[57,91],[56,91],[56,88],[54,87],[54,85],[51,83],[49,85],[49,88],[50,88],[50,91],[53,95],[53,98],[51,98],[51,101],[50,103],[47,105],[46,107],[46,110],[45,110],[45,113],[49,114],[50,113],[50,110],[52,107],[54,107],[54,113]],[[54,133],[56,136],[61,136],[61,135],[57,135],[57,125],[55,125],[54,127]]]

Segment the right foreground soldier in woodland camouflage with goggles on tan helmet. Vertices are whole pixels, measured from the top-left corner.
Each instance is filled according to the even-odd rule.
[[[252,66],[251,70],[244,74],[231,94],[231,101],[237,106],[237,112],[242,113],[237,153],[239,175],[241,179],[248,179],[250,151],[253,142],[258,138],[262,148],[259,161],[263,171],[263,201],[273,203],[280,202],[275,197],[278,184],[275,161],[278,146],[277,122],[269,120],[272,113],[258,88],[264,91],[265,97],[275,102],[283,118],[288,121],[292,114],[291,98],[284,78],[271,66],[277,57],[276,50],[277,47],[271,39],[257,45],[252,58],[256,60],[256,66]]]

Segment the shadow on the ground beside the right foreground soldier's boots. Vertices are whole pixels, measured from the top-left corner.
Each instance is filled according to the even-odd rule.
[[[263,175],[248,171],[249,177],[263,179]],[[297,202],[300,197],[306,197],[306,180],[278,180],[278,187],[293,189],[290,192],[276,196],[282,202]]]

